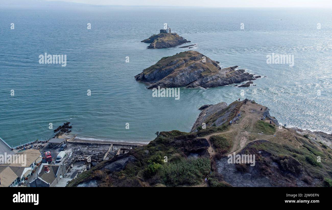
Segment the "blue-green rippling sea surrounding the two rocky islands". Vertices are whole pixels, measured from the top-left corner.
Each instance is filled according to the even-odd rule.
[[[146,49],[140,41],[164,23],[197,44],[192,50],[262,78],[152,97],[134,76],[188,50]],[[0,137],[10,145],[50,138],[49,123],[66,121],[79,138],[149,142],[156,131],[189,132],[204,104],[246,97],[288,127],[332,132],[331,9],[3,6],[0,41]],[[66,54],[67,65],[39,64],[45,52]],[[272,53],[294,55],[294,66],[267,64]]]

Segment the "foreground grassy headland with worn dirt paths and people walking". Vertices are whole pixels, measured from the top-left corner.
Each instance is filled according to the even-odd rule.
[[[269,109],[252,100],[201,110],[191,133],[160,132],[148,145],[101,162],[68,186],[329,185],[332,150],[319,136],[332,141],[331,135],[308,137],[279,127]],[[254,164],[230,163],[233,153],[254,156]]]

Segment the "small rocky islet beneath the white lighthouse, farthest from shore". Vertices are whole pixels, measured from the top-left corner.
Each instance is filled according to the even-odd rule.
[[[184,43],[188,43],[183,37],[180,37],[176,33],[160,33],[152,35],[148,39],[141,42],[151,43],[147,49],[160,49],[160,48],[173,48]]]

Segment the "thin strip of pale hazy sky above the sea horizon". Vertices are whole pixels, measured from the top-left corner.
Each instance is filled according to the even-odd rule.
[[[332,0],[62,0],[62,1],[98,4],[98,5],[332,8]]]

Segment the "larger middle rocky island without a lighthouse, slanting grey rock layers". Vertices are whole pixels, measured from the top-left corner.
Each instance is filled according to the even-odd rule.
[[[154,87],[218,87],[247,80],[254,76],[244,69],[232,66],[221,69],[218,61],[211,60],[197,51],[185,51],[163,57],[156,64],[144,69],[135,79]]]

